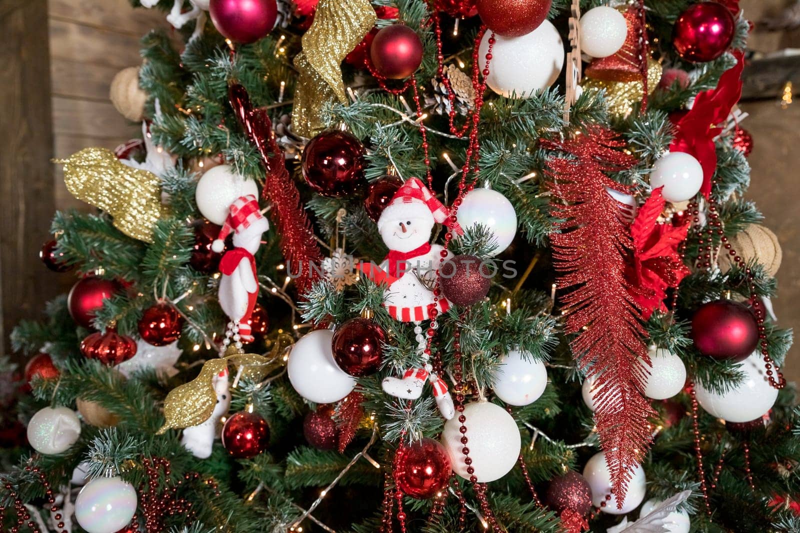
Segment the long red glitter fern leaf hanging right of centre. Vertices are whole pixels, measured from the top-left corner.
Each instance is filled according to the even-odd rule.
[[[631,295],[626,268],[633,254],[630,214],[610,190],[629,187],[606,172],[625,170],[634,158],[614,132],[597,128],[563,142],[543,142],[561,152],[548,162],[554,216],[563,222],[550,235],[566,332],[578,366],[596,379],[594,421],[618,505],[634,468],[650,444],[648,419],[656,415],[642,396],[650,360],[642,311]]]

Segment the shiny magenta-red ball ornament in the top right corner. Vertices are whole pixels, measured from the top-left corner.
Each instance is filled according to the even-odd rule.
[[[730,48],[735,31],[734,15],[726,6],[700,2],[686,8],[675,21],[672,44],[686,61],[711,61]]]

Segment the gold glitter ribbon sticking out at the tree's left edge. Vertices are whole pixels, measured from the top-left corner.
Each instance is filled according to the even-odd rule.
[[[57,162],[75,198],[106,211],[129,237],[153,242],[153,225],[163,214],[158,176],[123,165],[105,148],[85,148]]]

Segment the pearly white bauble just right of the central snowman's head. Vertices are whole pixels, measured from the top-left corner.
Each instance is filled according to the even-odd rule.
[[[458,224],[465,230],[480,224],[492,232],[498,245],[492,251],[492,255],[506,250],[517,234],[517,212],[514,211],[514,206],[508,198],[497,190],[470,190],[462,198],[456,218]]]

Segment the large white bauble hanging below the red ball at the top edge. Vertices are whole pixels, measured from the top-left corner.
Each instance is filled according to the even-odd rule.
[[[478,51],[485,58],[489,51],[491,30],[486,30]],[[530,98],[546,89],[561,74],[564,66],[564,43],[558,30],[546,20],[530,34],[519,37],[494,35],[492,58],[486,85],[497,94],[510,98]]]

